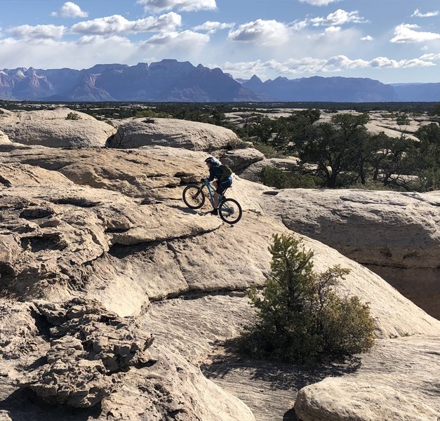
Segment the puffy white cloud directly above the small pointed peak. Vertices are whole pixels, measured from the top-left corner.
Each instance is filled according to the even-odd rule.
[[[260,45],[277,45],[284,44],[288,36],[289,30],[284,23],[258,19],[240,25],[235,31],[229,32],[227,38],[232,41],[252,42]]]

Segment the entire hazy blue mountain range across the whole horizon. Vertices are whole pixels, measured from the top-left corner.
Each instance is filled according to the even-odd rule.
[[[90,69],[0,70],[0,99],[42,101],[248,102],[440,101],[440,83],[387,85],[367,78],[258,76],[234,80],[221,69],[162,60]]]

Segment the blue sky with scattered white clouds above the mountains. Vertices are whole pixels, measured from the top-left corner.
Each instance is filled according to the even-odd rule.
[[[262,81],[440,82],[440,0],[0,0],[0,69],[164,58]]]

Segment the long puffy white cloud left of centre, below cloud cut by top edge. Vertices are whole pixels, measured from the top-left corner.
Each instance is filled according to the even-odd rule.
[[[138,32],[167,32],[173,31],[182,24],[182,17],[170,12],[159,18],[149,16],[145,19],[126,20],[124,16],[112,15],[79,22],[72,26],[71,32],[85,35],[112,35]]]

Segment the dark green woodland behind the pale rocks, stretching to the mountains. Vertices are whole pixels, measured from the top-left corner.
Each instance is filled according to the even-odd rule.
[[[266,167],[262,180],[274,187],[359,187],[426,192],[440,189],[440,127],[438,118],[415,133],[419,141],[405,134],[390,138],[366,130],[368,114],[383,111],[399,126],[409,117],[440,116],[438,102],[8,102],[5,109],[48,109],[63,105],[111,123],[130,117],[168,117],[224,126],[239,138],[251,140],[268,158],[298,156],[300,166]],[[302,109],[288,117],[269,119],[262,112]],[[338,114],[339,110],[361,114]],[[322,123],[322,112],[332,113]],[[229,112],[248,112],[241,123],[226,118]]]

